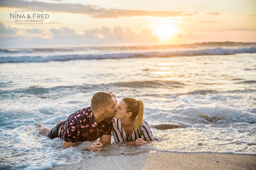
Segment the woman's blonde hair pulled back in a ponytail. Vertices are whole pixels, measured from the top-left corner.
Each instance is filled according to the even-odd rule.
[[[131,119],[135,119],[134,129],[140,128],[144,121],[144,103],[141,100],[136,100],[130,97],[122,99],[126,105],[126,112],[132,112]]]

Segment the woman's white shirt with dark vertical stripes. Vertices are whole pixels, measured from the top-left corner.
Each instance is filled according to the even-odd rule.
[[[143,138],[144,140],[154,140],[152,131],[146,119],[140,125],[140,128],[135,130],[133,128],[132,136],[128,137],[125,133],[121,121],[117,118],[113,118],[112,133],[115,142],[124,142],[128,140],[136,140],[137,138]]]

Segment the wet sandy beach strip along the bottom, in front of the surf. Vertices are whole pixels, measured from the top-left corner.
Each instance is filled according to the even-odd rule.
[[[154,170],[245,170],[256,169],[256,155],[231,153],[176,153],[157,151],[130,156],[90,157],[76,164],[56,166],[52,170],[87,169],[154,169]]]

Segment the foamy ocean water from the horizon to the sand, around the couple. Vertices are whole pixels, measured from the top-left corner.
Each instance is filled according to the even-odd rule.
[[[0,169],[157,150],[256,154],[256,43],[0,49],[0,75]],[[38,133],[37,124],[53,128],[100,91],[143,100],[158,141],[135,147],[112,136],[89,152]],[[163,124],[180,128],[155,128]]]

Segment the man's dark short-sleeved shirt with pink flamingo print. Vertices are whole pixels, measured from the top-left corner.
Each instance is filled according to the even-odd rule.
[[[79,110],[68,117],[62,125],[60,138],[66,142],[96,140],[103,134],[111,135],[112,119],[105,119],[98,125],[92,114],[91,107]]]

